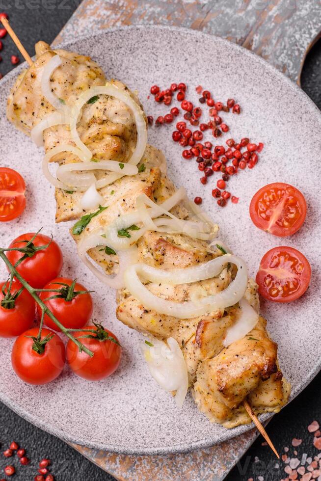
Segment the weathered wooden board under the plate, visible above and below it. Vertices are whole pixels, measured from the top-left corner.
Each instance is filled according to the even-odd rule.
[[[305,56],[320,36],[320,18],[317,0],[83,0],[54,44],[108,27],[187,27],[252,50],[300,84]],[[72,446],[118,480],[220,481],[257,435],[252,429],[209,449],[167,456],[131,456]]]

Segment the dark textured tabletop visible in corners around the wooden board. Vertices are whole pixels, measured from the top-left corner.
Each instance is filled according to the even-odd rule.
[[[0,0],[0,12],[6,11],[10,15],[12,27],[19,33],[27,51],[33,55],[33,44],[39,39],[52,42],[79,4],[80,0]],[[48,5],[53,8],[49,9]],[[0,53],[3,58],[0,73],[3,75],[12,68],[10,56],[17,54],[8,37],[4,39],[4,44]],[[321,108],[321,41],[308,54],[301,80],[303,90]],[[317,454],[307,426],[314,419],[321,424],[320,386],[321,374],[269,423],[267,432],[281,453],[283,447],[291,446],[291,440],[296,437],[303,439],[302,445],[297,448],[298,457],[302,453]],[[42,457],[50,457],[51,471],[58,481],[113,479],[63,441],[30,425],[0,403],[0,450],[6,449],[12,440],[27,450],[31,463],[27,467],[20,467],[17,457],[6,459],[0,454],[0,478],[3,467],[12,463],[17,469],[15,479],[32,480],[37,474],[38,461]],[[259,476],[263,476],[264,481],[276,481],[286,476],[283,469],[280,472],[274,468],[275,457],[267,446],[261,445],[262,441],[262,437],[258,438],[228,475],[227,481],[247,481],[250,477],[256,480]]]

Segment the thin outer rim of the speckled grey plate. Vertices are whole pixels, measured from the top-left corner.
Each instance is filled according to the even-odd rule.
[[[264,58],[261,56],[257,55],[256,53],[246,49],[245,47],[242,47],[239,44],[236,44],[230,40],[224,39],[222,37],[219,37],[217,35],[212,35],[210,33],[202,32],[200,30],[193,30],[191,28],[186,28],[186,27],[176,27],[176,26],[164,26],[164,25],[131,25],[131,26],[121,26],[121,27],[111,27],[111,28],[105,28],[100,30],[99,32],[95,32],[93,34],[84,34],[84,35],[78,35],[72,40],[68,40],[66,42],[60,42],[57,45],[53,46],[53,50],[58,50],[58,49],[67,49],[71,45],[83,41],[86,39],[99,39],[101,38],[102,35],[106,35],[109,32],[118,32],[118,31],[129,31],[129,30],[160,30],[160,31],[176,31],[176,32],[181,32],[183,34],[188,34],[193,37],[203,37],[203,38],[208,38],[210,40],[216,40],[218,43],[221,43],[223,45],[228,45],[230,48],[235,49],[242,55],[245,54],[254,61],[258,62],[260,66],[262,66],[265,69],[268,69],[271,73],[274,75],[277,75],[277,77],[282,81],[286,82],[288,87],[294,90],[294,92],[300,96],[304,102],[305,106],[309,107],[311,109],[311,113],[313,115],[316,115],[316,117],[319,117],[319,124],[321,128],[321,110],[317,107],[317,105],[310,99],[310,97],[297,85],[297,83],[293,82],[289,77],[287,77],[285,74],[280,72],[276,67],[268,63]],[[34,59],[34,56],[32,57]],[[27,67],[27,62],[23,62],[21,65],[17,66],[13,70],[11,70],[9,73],[7,73],[1,80],[0,80],[0,89],[2,84],[5,82],[10,82],[10,80],[14,79],[19,75],[19,73]],[[277,342],[277,341],[276,341]],[[314,379],[314,377],[320,372],[321,370],[321,359],[319,360],[319,363],[306,375],[305,381],[302,384],[301,389],[299,390],[298,393],[294,397],[290,398],[290,401],[287,402],[287,404],[283,407],[286,407],[291,401],[294,400],[294,398],[300,394],[306,386]],[[50,434],[53,434],[54,436],[59,437],[60,439],[71,443],[71,444],[79,444],[81,446],[85,446],[91,449],[97,449],[97,450],[103,450],[103,451],[108,451],[111,453],[117,453],[117,454],[127,454],[127,455],[159,455],[159,454],[179,454],[179,453],[187,453],[193,450],[197,449],[204,449],[204,448],[209,448],[214,446],[215,444],[220,444],[221,442],[228,441],[229,439],[232,439],[233,437],[236,437],[238,435],[241,435],[250,429],[254,428],[254,424],[248,424],[248,425],[243,425],[241,426],[241,432],[238,432],[238,434],[234,434],[234,429],[226,429],[227,435],[224,436],[224,438],[219,441],[219,442],[213,442],[209,438],[206,439],[200,439],[198,441],[194,441],[192,443],[189,443],[188,445],[180,443],[180,444],[175,444],[171,446],[166,446],[162,448],[145,448],[144,450],[134,450],[134,449],[129,449],[125,446],[120,446],[118,445],[117,447],[115,446],[108,446],[106,443],[94,443],[93,441],[88,441],[85,439],[81,439],[80,437],[73,437],[73,435],[64,432],[62,429],[54,428],[53,425],[50,425],[49,428],[46,425],[46,422],[41,421],[38,419],[36,416],[29,414],[27,411],[24,411],[23,408],[18,406],[14,400],[11,400],[7,398],[6,396],[2,395],[0,392],[0,401],[3,402],[6,406],[8,406],[10,409],[12,409],[14,412],[16,412],[19,416],[23,417],[26,419],[29,423],[33,424],[34,426],[43,429],[46,432],[49,432]],[[283,409],[282,407],[282,409]],[[271,419],[274,413],[265,413],[260,416],[260,420],[262,422],[266,421],[267,419]],[[209,421],[210,422],[210,421]]]

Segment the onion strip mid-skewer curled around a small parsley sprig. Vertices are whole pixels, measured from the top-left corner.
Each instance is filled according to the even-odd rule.
[[[163,210],[169,211],[176,204],[178,204],[186,196],[186,191],[184,187],[179,188],[172,196],[166,199],[161,204],[154,204],[149,210],[149,215],[151,218],[157,217],[162,214]],[[127,249],[131,245],[137,242],[140,237],[142,237],[147,228],[141,228],[138,231],[131,231],[130,238],[118,237],[118,231],[121,229],[127,229],[133,224],[138,224],[142,222],[139,212],[134,211],[130,214],[124,214],[117,217],[111,224],[107,226],[106,229],[106,239],[109,242],[108,245],[115,250]]]

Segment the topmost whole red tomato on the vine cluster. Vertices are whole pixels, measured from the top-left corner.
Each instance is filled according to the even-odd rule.
[[[10,248],[26,247],[24,240],[31,240],[35,233],[22,234],[11,242]],[[39,247],[47,245],[51,238],[43,234],[37,234],[33,240],[33,245]],[[11,250],[7,252],[7,257],[11,264],[15,264],[23,257],[22,252]],[[30,286],[35,289],[41,289],[47,282],[54,279],[59,274],[62,267],[62,252],[58,244],[52,240],[50,245],[43,250],[34,253],[32,257],[28,257],[18,267],[19,274],[27,281]]]

